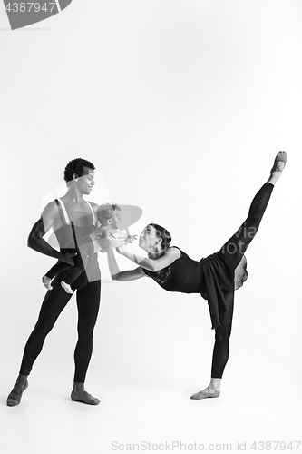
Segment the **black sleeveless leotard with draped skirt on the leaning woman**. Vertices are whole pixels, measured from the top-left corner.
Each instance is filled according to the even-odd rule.
[[[180,251],[180,258],[163,270],[143,271],[164,290],[200,293],[202,298],[208,300],[212,329],[219,326],[219,318],[228,310],[222,290],[234,290],[234,270],[229,268],[221,251],[200,262]]]

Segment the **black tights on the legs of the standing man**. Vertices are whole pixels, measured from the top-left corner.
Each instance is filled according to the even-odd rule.
[[[20,369],[22,375],[29,375],[34,360],[43,348],[45,337],[52,330],[55,321],[72,297],[72,294],[63,290],[61,281],[62,273],[54,278],[53,290],[47,291],[45,295],[38,321],[25,345]],[[93,351],[93,328],[100,306],[101,281],[89,282],[86,273],[83,272],[73,282],[72,287],[77,289],[76,302],[78,307],[78,341],[74,350],[75,372],[73,380],[77,383],[83,383]]]

